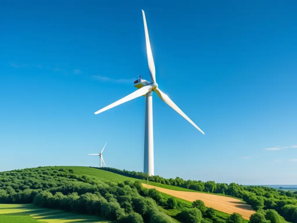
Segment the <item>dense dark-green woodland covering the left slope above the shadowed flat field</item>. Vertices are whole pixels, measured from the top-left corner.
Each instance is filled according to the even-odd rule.
[[[55,167],[1,172],[0,177],[2,203],[33,202],[40,207],[98,215],[120,222],[174,222],[148,197],[163,202],[161,195],[154,190],[147,193],[139,181],[104,182]]]

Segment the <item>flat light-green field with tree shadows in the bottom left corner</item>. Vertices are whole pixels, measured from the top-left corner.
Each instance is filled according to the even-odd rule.
[[[1,223],[108,223],[97,216],[37,208],[32,204],[0,204]]]

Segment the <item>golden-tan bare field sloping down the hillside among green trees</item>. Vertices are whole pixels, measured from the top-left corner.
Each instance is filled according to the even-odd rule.
[[[142,186],[147,187],[147,184],[143,183]],[[214,194],[203,194],[198,192],[174,191],[151,185],[149,185],[149,188],[155,188],[162,193],[169,194],[171,196],[178,197],[187,201],[202,200],[205,203],[206,207],[214,208],[218,211],[222,211],[228,214],[237,212],[241,214],[242,217],[245,219],[249,219],[249,217],[253,213],[255,213],[250,205],[247,205],[244,202],[241,202],[241,200],[232,197],[224,197]]]

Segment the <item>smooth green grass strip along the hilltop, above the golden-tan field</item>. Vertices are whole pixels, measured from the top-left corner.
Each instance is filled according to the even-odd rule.
[[[98,180],[105,179],[105,180],[118,181],[118,182],[123,182],[124,180],[131,180],[131,181],[140,180],[140,179],[126,177],[126,176],[122,176],[122,175],[119,175],[116,173],[112,173],[109,171],[105,171],[102,169],[96,169],[96,168],[92,168],[92,167],[60,166],[58,168],[73,169],[74,173],[76,173],[76,174],[89,175],[89,176],[94,177],[94,179],[98,179]],[[146,180],[140,180],[140,181],[141,181],[141,183],[147,183]],[[157,187],[161,187],[161,188],[165,188],[165,189],[170,189],[170,190],[174,190],[174,191],[189,191],[189,192],[197,192],[197,193],[203,193],[203,194],[214,194],[214,193],[195,191],[195,190],[191,190],[191,189],[186,189],[186,188],[182,188],[182,187],[166,185],[166,184],[156,183],[156,182],[151,182],[151,181],[149,181],[149,185],[157,186]],[[214,194],[214,195],[232,197],[232,196],[225,195],[225,194]],[[237,197],[233,197],[233,198],[243,201],[242,199],[237,198]]]

